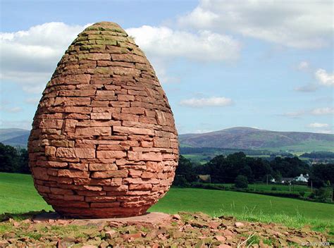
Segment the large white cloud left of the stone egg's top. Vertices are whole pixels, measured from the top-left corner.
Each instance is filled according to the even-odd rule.
[[[1,83],[17,82],[40,93],[57,62],[85,26],[44,23],[18,32],[0,32]]]

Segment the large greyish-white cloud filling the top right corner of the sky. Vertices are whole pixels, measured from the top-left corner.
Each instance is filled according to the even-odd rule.
[[[332,1],[202,0],[179,18],[181,26],[214,32],[238,32],[300,49],[332,42]]]

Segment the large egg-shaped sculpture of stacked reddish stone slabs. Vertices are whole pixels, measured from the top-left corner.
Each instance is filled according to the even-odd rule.
[[[178,163],[173,113],[119,25],[95,23],[70,44],[39,101],[28,149],[37,191],[64,216],[137,216],[168,191]]]

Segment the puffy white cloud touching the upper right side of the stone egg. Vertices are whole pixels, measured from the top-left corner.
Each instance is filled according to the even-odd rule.
[[[229,35],[197,33],[144,25],[125,30],[149,56],[183,57],[196,61],[230,61],[238,58],[240,44]]]

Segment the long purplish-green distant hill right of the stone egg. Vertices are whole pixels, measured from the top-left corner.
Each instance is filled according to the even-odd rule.
[[[334,135],[314,132],[276,132],[243,127],[202,134],[179,135],[179,141],[183,147],[334,151]]]

